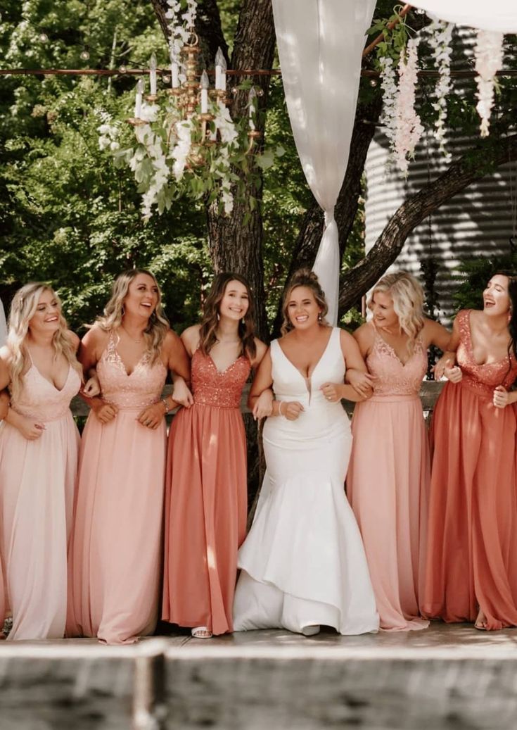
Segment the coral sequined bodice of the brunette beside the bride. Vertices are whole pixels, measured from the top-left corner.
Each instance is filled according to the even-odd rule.
[[[194,402],[217,408],[238,408],[251,367],[249,359],[241,356],[219,372],[209,355],[195,350],[192,358]]]

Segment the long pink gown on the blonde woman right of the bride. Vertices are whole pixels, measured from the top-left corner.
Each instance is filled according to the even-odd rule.
[[[421,339],[405,364],[375,325],[366,359],[373,396],[357,403],[346,493],[357,518],[381,629],[425,629],[419,616],[424,563],[429,447],[419,390],[427,370]]]

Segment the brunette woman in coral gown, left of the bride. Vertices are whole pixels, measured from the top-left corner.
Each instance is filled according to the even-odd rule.
[[[168,440],[163,619],[193,636],[233,631],[237,550],[246,534],[246,435],[240,404],[266,347],[254,337],[249,284],[217,274],[201,325],[182,334],[193,404]]]

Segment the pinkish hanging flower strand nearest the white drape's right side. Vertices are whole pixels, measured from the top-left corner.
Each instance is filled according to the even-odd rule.
[[[394,155],[398,169],[408,174],[408,158],[413,157],[416,143],[424,127],[415,110],[415,88],[418,80],[419,37],[411,38],[405,54],[400,54],[399,88],[395,104]]]

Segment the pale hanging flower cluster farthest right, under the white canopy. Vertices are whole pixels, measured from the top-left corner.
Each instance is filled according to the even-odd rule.
[[[478,76],[478,104],[475,107],[481,118],[481,137],[487,137],[490,127],[490,115],[494,104],[494,77],[502,69],[503,50],[502,33],[494,31],[478,31],[475,46],[475,70]]]

